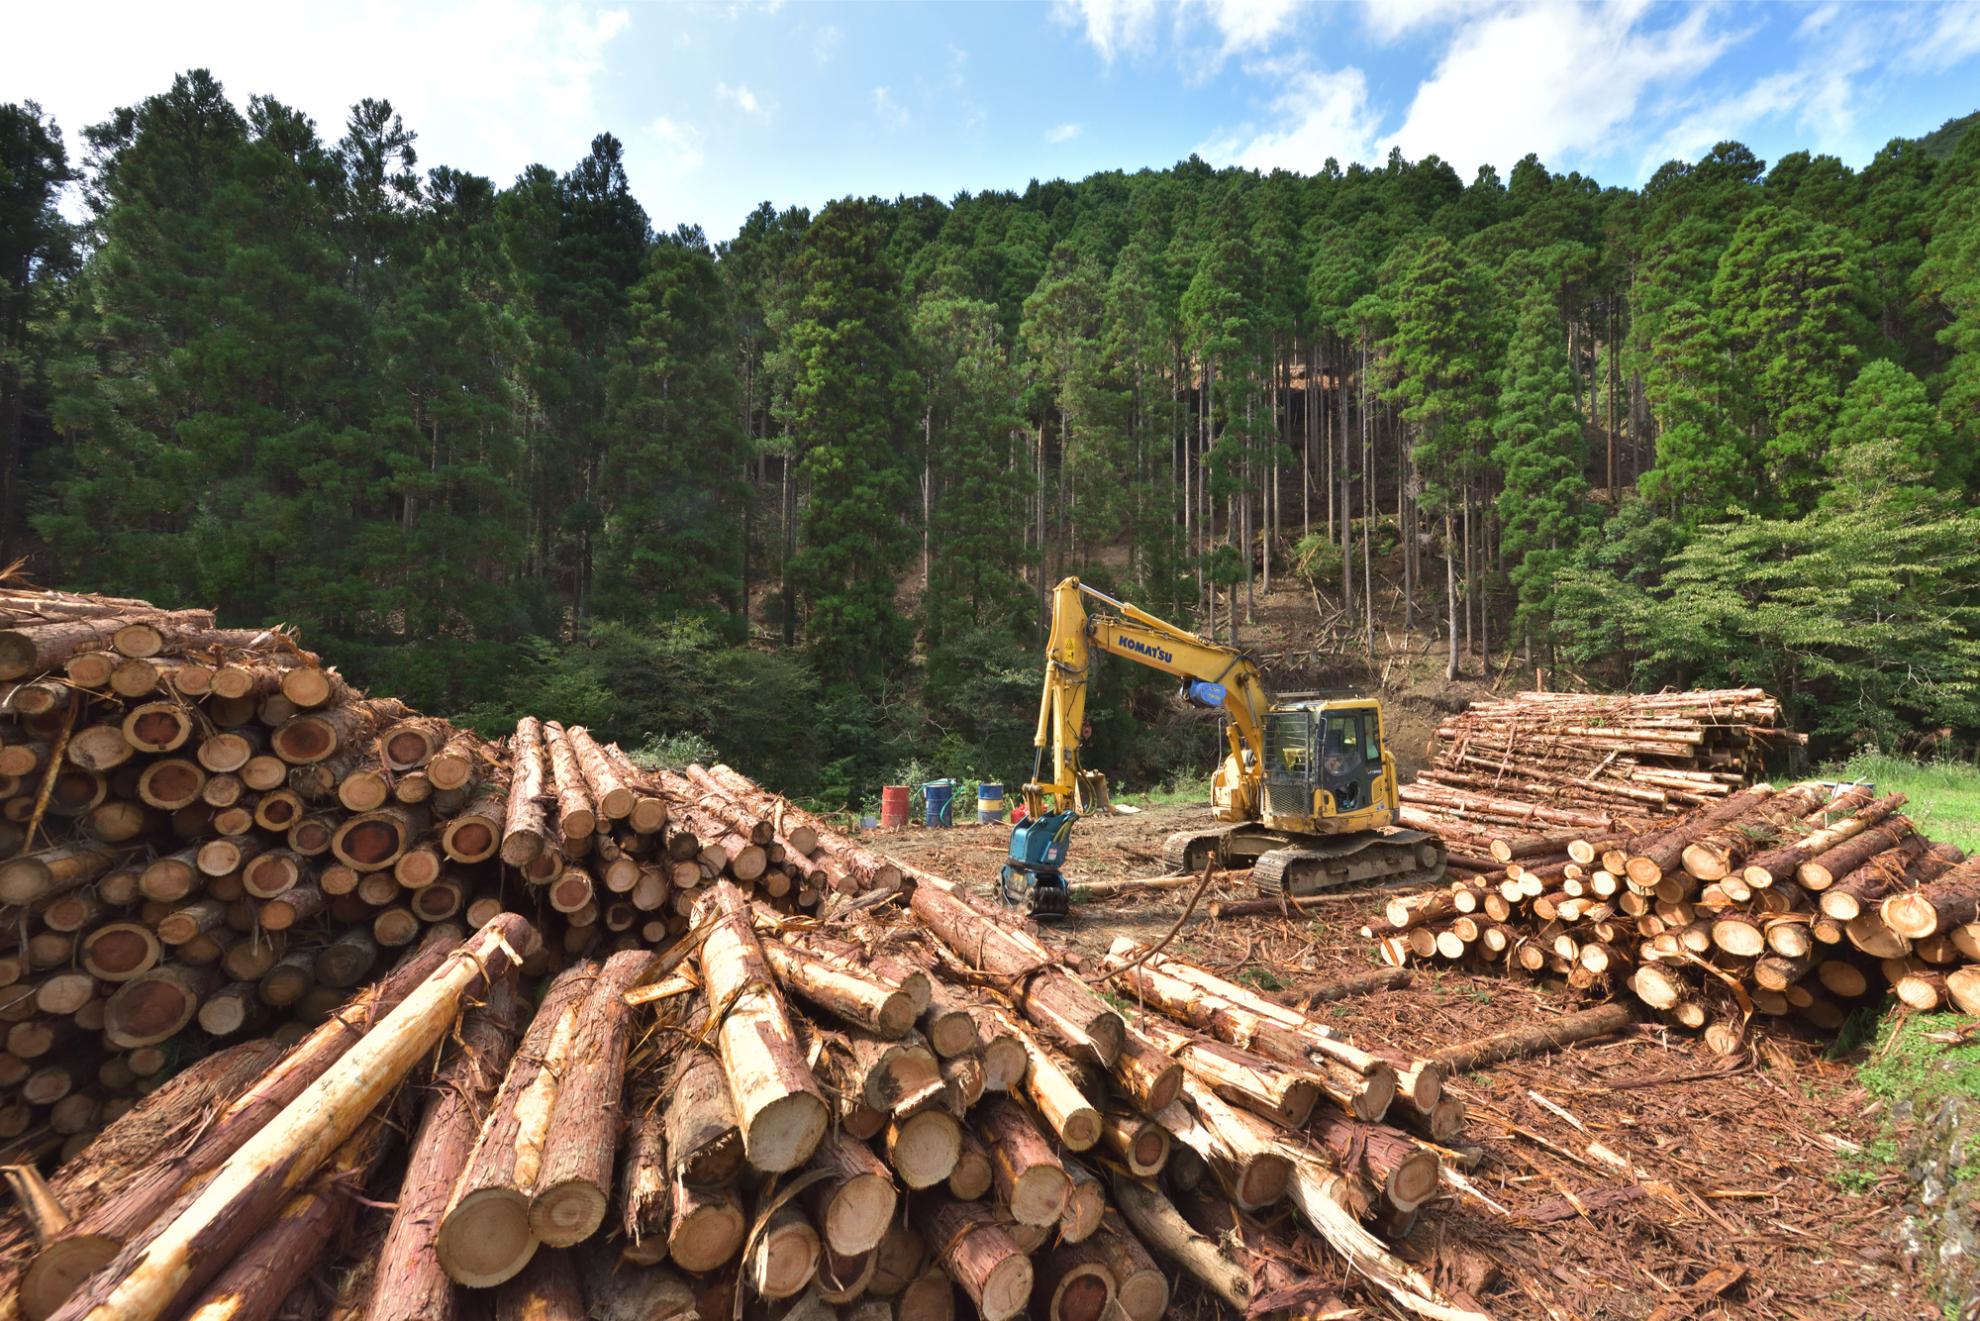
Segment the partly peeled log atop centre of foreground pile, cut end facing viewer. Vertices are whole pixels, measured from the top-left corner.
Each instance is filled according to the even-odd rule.
[[[804,1165],[826,1133],[826,1097],[804,1062],[762,947],[748,899],[715,881],[695,905],[701,974],[717,1006],[723,1073],[742,1131],[742,1151],[764,1172]]]

